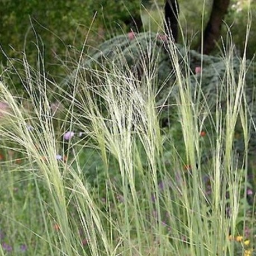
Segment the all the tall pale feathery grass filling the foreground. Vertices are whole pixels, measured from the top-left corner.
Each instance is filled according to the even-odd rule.
[[[12,204],[17,208],[15,204],[20,202],[14,198],[8,202],[11,197],[6,195],[1,225],[13,234],[14,227],[7,224],[20,224],[15,228],[21,236],[30,237],[27,255],[234,255],[234,244],[227,237],[237,233],[248,168],[237,164],[233,151],[235,126],[240,119],[247,161],[245,57],[236,83],[232,53],[224,56],[226,73],[212,111],[201,79],[196,88],[191,86],[188,56],[183,72],[178,50],[170,44],[168,52],[176,75],[170,90],[177,88],[173,104],[182,134],[182,140],[177,141],[170,136],[171,129],[164,134],[159,126],[158,67],[150,60],[153,50],[154,45],[149,44],[145,65],[150,68],[141,81],[110,62],[103,71],[84,70],[93,79],[77,72],[72,93],[61,92],[63,88],[54,84],[65,108],[65,117],[57,121],[69,131],[79,129],[86,134],[85,139],[68,142],[67,162],[56,159],[63,140],[56,135],[46,75],[32,69],[24,58],[23,83],[33,111],[18,102],[8,84],[0,83],[1,100],[10,106],[0,126],[3,149],[17,151],[25,159],[20,168],[6,160],[1,180],[7,186],[11,186],[9,182],[22,186],[21,177],[26,177],[34,189],[30,191],[30,214],[36,221],[30,223],[27,216],[12,211]],[[209,138],[212,157],[207,168],[200,138],[206,120],[215,134]],[[32,130],[27,129],[28,124]],[[174,126],[179,127],[177,124]],[[182,144],[184,155],[179,151]],[[86,158],[84,165],[82,158]],[[189,167],[184,168],[184,164]],[[101,173],[90,182],[98,170]],[[210,180],[211,196],[206,195],[205,175]],[[2,189],[2,193],[6,191]],[[26,208],[23,198],[20,201]],[[1,246],[0,253],[4,255]]]

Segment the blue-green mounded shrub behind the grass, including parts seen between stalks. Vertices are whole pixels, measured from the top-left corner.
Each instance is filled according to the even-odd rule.
[[[236,53],[230,49],[227,55],[230,56],[229,62],[226,62],[221,56],[207,56],[197,53],[194,50],[188,50],[182,45],[169,44],[166,37],[150,32],[134,34],[129,39],[128,35],[113,37],[103,42],[97,49],[89,51],[87,58],[84,58],[78,69],[75,69],[61,84],[65,90],[73,91],[74,78],[91,81],[92,86],[109,83],[109,79],[115,79],[118,74],[121,77],[130,77],[131,83],[137,87],[147,83],[149,74],[151,74],[150,83],[153,90],[157,91],[157,105],[162,106],[164,103],[169,106],[174,105],[178,97],[177,76],[173,64],[174,49],[177,51],[177,61],[183,75],[184,83],[189,83],[189,89],[192,95],[198,93],[198,84],[204,93],[205,98],[196,98],[195,101],[207,101],[212,113],[216,110],[216,102],[219,101],[223,109],[225,102],[230,96],[227,95],[227,89],[224,84],[229,79],[234,79],[234,86],[240,83],[240,72],[242,60]],[[173,48],[174,47],[174,48]],[[174,54],[175,55],[175,54]],[[249,104],[250,113],[254,122],[256,121],[254,88],[256,86],[256,64],[253,61],[245,61],[246,75],[244,79],[246,100]],[[196,72],[200,68],[201,72]],[[97,71],[96,71],[97,70]],[[115,72],[113,72],[115,70]],[[230,70],[227,72],[227,70]],[[102,73],[108,73],[106,76]],[[231,75],[232,73],[232,75]],[[232,77],[232,78],[231,78]],[[69,88],[69,89],[68,89]],[[78,90],[83,91],[84,83],[77,84]],[[217,99],[219,92],[221,98]],[[172,92],[172,93],[170,93]],[[199,96],[198,96],[199,97]],[[99,102],[102,102],[99,100]],[[177,111],[175,108],[160,108],[162,110],[162,122],[166,119],[175,118]],[[175,122],[174,122],[175,123]],[[239,127],[239,122],[237,124]],[[207,129],[211,129],[208,125]],[[236,130],[237,136],[241,135],[241,129]],[[214,136],[214,135],[212,135]],[[238,152],[243,152],[243,136],[235,141],[235,148]],[[254,152],[256,144],[256,132],[253,129],[250,138],[250,150]],[[206,153],[208,154],[208,153]]]

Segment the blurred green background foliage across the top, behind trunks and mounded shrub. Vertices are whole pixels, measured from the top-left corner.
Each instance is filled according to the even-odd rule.
[[[95,46],[115,34],[128,32],[127,20],[131,15],[141,14],[145,30],[159,30],[164,0],[0,0],[0,3],[1,69],[7,66],[5,54],[21,59],[26,53],[31,65],[36,65],[40,51],[46,71],[59,82],[67,72],[63,64],[70,60],[75,63],[85,39],[88,45]],[[202,17],[206,22],[212,0],[193,0],[193,4],[179,0],[179,4],[182,30],[193,47],[200,40]],[[230,28],[237,48],[243,51],[249,6],[252,27],[247,56],[252,58],[256,48],[255,0],[231,0],[222,35],[225,38]],[[179,41],[182,42],[181,36]]]

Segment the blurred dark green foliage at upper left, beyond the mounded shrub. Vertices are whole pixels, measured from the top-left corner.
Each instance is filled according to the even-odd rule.
[[[77,50],[73,49],[82,48],[92,23],[88,45],[95,45],[113,33],[130,30],[125,22],[131,15],[140,15],[139,1],[3,1],[0,9],[1,51],[15,60],[26,55],[33,67],[41,59],[45,67],[37,68],[51,70],[49,78],[60,81],[65,73],[63,62],[77,58]],[[0,62],[2,70],[12,65],[20,70],[22,66],[22,61],[7,61],[2,53]],[[13,86],[22,93],[22,86],[13,75]]]

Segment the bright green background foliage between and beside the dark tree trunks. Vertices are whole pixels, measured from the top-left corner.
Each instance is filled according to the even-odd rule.
[[[188,4],[187,0],[179,0],[180,15],[179,21],[181,23],[182,34],[184,38],[179,34],[179,42],[186,41],[186,44],[191,45],[192,49],[197,49],[198,44],[201,41],[201,31],[202,26],[205,27],[210,17],[211,7],[213,0],[195,0],[193,4]],[[150,15],[148,12],[143,12],[143,21],[146,27],[150,27],[151,31],[159,31],[160,20],[163,16],[162,7],[163,0],[151,1],[152,10],[150,10]],[[155,3],[157,3],[159,8],[155,8]],[[248,13],[250,13],[250,18],[248,19]],[[255,44],[256,44],[256,4],[255,1],[247,0],[233,0],[230,1],[229,9],[224,17],[224,22],[222,23],[221,36],[226,42],[227,28],[230,29],[234,44],[240,50],[240,53],[244,51],[244,42],[246,35],[246,26],[248,21],[252,22],[250,27],[249,42],[246,47],[246,55],[248,59],[252,59],[255,54]],[[150,18],[150,21],[149,21]],[[203,18],[203,24],[202,24]],[[149,23],[149,25],[148,25]],[[239,29],[238,29],[239,28]],[[162,27],[163,30],[163,27]],[[220,48],[222,48],[220,43]],[[215,53],[217,53],[216,49]]]

